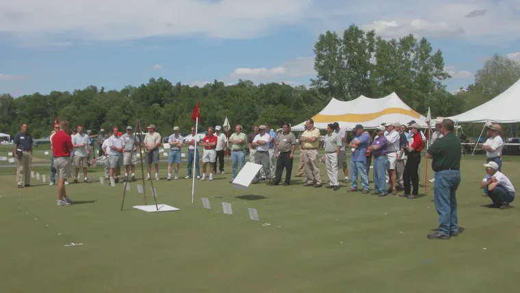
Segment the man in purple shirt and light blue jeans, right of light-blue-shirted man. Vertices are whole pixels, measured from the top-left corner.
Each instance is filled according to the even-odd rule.
[[[369,148],[369,152],[374,155],[374,187],[376,192],[374,195],[387,196],[387,148],[389,141],[387,136],[384,136],[385,125],[380,125],[376,128],[377,138],[372,142],[372,146]]]

